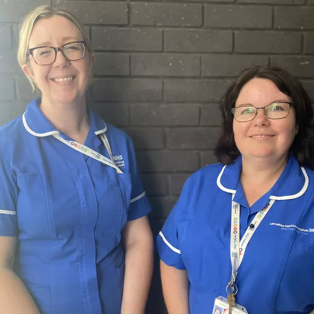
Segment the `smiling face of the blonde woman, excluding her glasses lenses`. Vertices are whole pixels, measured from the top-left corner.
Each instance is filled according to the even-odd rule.
[[[39,20],[33,26],[28,48],[61,47],[82,40],[83,36],[74,23],[63,16],[54,15]],[[85,98],[92,73],[92,55],[86,50],[84,58],[69,61],[61,52],[57,52],[54,63],[50,65],[38,65],[29,56],[29,62],[23,66],[23,70],[33,78],[42,92],[42,101],[76,103]]]

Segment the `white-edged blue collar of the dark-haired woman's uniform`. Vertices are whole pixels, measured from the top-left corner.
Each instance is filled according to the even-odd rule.
[[[241,155],[235,161],[222,168],[218,178],[218,187],[228,193],[235,194],[240,183],[242,170]],[[293,184],[291,184],[293,182]],[[303,167],[300,167],[294,156],[288,157],[287,165],[277,182],[271,189],[269,199],[291,200],[302,196],[309,185],[309,177]]]

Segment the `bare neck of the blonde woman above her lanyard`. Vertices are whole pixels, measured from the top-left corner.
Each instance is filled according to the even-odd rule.
[[[86,138],[89,130],[89,117],[86,112],[85,100],[71,104],[56,104],[42,98],[40,109],[61,133],[73,139]]]

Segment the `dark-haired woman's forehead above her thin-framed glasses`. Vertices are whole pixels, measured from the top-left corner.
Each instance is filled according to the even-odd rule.
[[[240,90],[236,104],[263,106],[277,100],[290,101],[273,81],[266,78],[253,78]]]

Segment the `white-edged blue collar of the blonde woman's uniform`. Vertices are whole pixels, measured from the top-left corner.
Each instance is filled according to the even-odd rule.
[[[23,125],[27,132],[34,136],[44,137],[53,134],[59,134],[60,132],[56,130],[50,121],[45,117],[45,115],[39,109],[41,103],[41,98],[32,100],[26,108],[23,114]],[[107,131],[107,126],[103,119],[95,114],[92,110],[88,110],[90,117],[90,128],[94,131],[96,135],[104,133]]]

